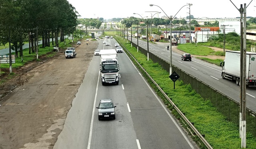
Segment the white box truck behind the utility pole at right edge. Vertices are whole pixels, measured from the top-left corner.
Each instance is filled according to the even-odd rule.
[[[236,80],[240,85],[240,51],[226,51],[222,67],[222,79]],[[246,85],[256,87],[256,53],[246,52]]]

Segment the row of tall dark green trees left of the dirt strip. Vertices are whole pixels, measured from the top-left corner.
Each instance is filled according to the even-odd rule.
[[[50,38],[57,42],[58,34],[63,41],[65,32],[76,29],[77,17],[68,0],[0,0],[0,44],[10,40],[18,57],[18,51],[22,56],[23,42],[29,39],[34,52],[38,36],[43,47],[50,46]]]

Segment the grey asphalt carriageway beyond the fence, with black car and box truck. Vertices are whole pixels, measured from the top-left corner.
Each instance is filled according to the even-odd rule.
[[[132,42],[137,44],[137,39],[133,38]],[[170,45],[170,43],[149,43],[149,51],[167,62],[170,62],[170,50],[166,49],[167,45]],[[147,42],[145,40],[139,40],[139,46],[147,49]],[[191,62],[182,61],[181,55],[175,52],[172,52],[172,65],[177,66],[188,74],[193,75],[224,95],[227,95],[240,103],[240,87],[233,81],[222,79],[222,68],[220,66],[216,66],[193,57]],[[256,111],[256,89],[254,87],[246,88],[246,107],[252,111]]]

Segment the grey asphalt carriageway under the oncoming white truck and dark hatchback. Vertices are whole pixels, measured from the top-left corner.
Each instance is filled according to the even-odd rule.
[[[115,49],[102,39],[98,50]],[[100,57],[90,62],[54,149],[198,149],[172,117],[128,56],[118,53],[119,85],[102,85]],[[96,106],[112,99],[116,119],[98,120]]]

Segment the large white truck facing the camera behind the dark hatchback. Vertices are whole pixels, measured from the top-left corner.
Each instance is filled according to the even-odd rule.
[[[119,83],[120,66],[117,60],[117,52],[115,49],[100,50],[100,72],[102,85]]]

